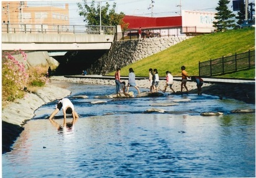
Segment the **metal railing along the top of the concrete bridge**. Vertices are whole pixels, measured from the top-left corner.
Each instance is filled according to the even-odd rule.
[[[114,35],[116,27],[99,25],[2,24],[2,33],[86,33]]]

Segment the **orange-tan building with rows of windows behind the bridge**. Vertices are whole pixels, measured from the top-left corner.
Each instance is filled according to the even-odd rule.
[[[69,22],[68,4],[60,7],[29,7],[26,1],[2,1],[2,32],[33,31],[50,32],[67,30]]]

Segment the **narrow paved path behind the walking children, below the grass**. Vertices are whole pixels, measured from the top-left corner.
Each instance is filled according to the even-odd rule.
[[[114,79],[114,76],[102,76],[102,75],[74,75],[74,76],[65,76],[66,78],[92,78],[92,79]],[[121,76],[122,79],[128,79],[127,76]],[[148,77],[136,77],[137,80],[148,79]],[[159,78],[160,80],[165,80],[165,78]],[[181,81],[181,77],[174,77],[175,81]],[[224,79],[224,78],[202,78],[206,83],[232,83],[232,84],[255,84],[255,79]],[[188,79],[190,81],[190,79]]]

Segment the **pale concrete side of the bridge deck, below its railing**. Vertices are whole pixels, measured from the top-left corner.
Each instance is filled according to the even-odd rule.
[[[2,33],[2,50],[109,50],[114,35]]]

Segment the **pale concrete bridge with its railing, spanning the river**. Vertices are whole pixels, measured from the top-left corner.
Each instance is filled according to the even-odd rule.
[[[87,25],[2,25],[2,50],[109,50],[116,27]]]

